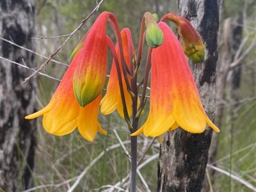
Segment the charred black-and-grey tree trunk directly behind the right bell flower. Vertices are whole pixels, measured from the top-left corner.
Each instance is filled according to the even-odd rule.
[[[191,21],[205,45],[204,63],[189,66],[205,112],[214,120],[216,63],[222,1],[180,0],[179,15]],[[191,134],[183,129],[165,133],[159,155],[158,191],[201,191],[212,129]]]

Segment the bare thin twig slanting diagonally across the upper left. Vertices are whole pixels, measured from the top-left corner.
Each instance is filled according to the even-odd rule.
[[[100,3],[97,4],[97,6],[94,8],[94,10],[90,13],[90,15],[88,15],[88,17],[84,18],[84,20],[81,21],[81,24],[72,32],[70,33],[70,35],[68,36],[67,40],[64,41],[64,43],[62,43],[62,45],[53,53],[51,54],[48,59],[45,61],[45,63],[43,63],[39,68],[38,70],[36,70],[35,73],[33,73],[32,75],[30,75],[29,77],[25,78],[25,81],[28,81],[31,77],[35,77],[40,71],[42,71],[44,69],[44,67],[49,63],[49,61],[52,60],[52,57],[54,57],[56,54],[58,54],[58,52],[60,52],[61,48],[63,48],[67,41],[70,40],[70,38],[84,25],[84,23],[90,18],[92,17],[93,13],[95,13],[99,7],[100,7],[100,4],[103,3],[104,0],[101,0]]]

